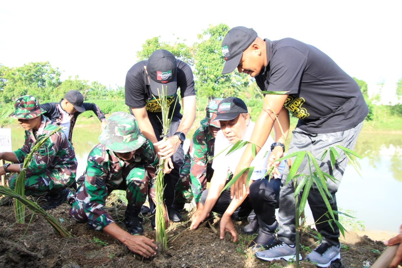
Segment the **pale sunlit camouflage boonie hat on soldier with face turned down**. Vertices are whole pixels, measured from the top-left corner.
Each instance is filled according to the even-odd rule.
[[[99,136],[99,142],[116,153],[137,150],[145,141],[134,115],[122,111],[112,113]]]

